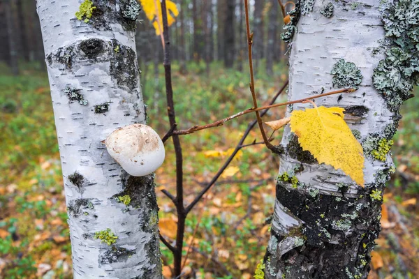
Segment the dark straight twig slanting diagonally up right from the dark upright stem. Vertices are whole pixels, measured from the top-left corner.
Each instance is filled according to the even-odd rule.
[[[272,98],[270,104],[275,103],[275,101],[277,100],[279,95],[286,89],[286,86],[288,86],[288,80],[284,83],[284,85],[281,87],[281,89],[279,89],[279,91],[274,96],[274,98]],[[263,112],[261,112],[260,116],[264,116],[267,113],[268,110],[269,109],[266,109]],[[207,193],[207,191],[210,190],[210,188],[214,185],[214,183],[216,183],[216,181],[219,179],[221,174],[224,172],[224,170],[228,167],[228,165],[230,165],[231,161],[233,160],[233,158],[235,157],[237,152],[241,149],[240,146],[243,145],[244,140],[246,140],[246,138],[249,135],[251,129],[253,129],[253,127],[256,125],[256,122],[257,122],[256,120],[253,120],[253,121],[251,121],[251,123],[249,123],[249,125],[247,126],[247,129],[244,131],[244,134],[242,135],[242,138],[238,142],[237,146],[235,147],[233,153],[231,153],[231,155],[227,158],[226,162],[220,167],[219,171],[216,172],[216,174],[211,179],[211,181],[207,184],[207,186],[205,186],[205,188],[203,188],[203,190],[200,191],[200,193],[195,197],[195,199],[193,199],[191,204],[189,204],[189,206],[186,207],[186,209],[185,209],[186,214],[188,214],[193,209],[193,206],[195,206],[200,201],[200,199],[203,197],[203,195],[205,195],[205,193]]]

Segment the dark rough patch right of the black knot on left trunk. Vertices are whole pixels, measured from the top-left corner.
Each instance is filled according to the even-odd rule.
[[[136,66],[137,56],[131,47],[121,45],[117,40],[112,40],[112,50],[119,46],[119,52],[113,52],[114,59],[110,63],[110,75],[119,87],[128,89],[132,93],[138,87],[138,68]]]

